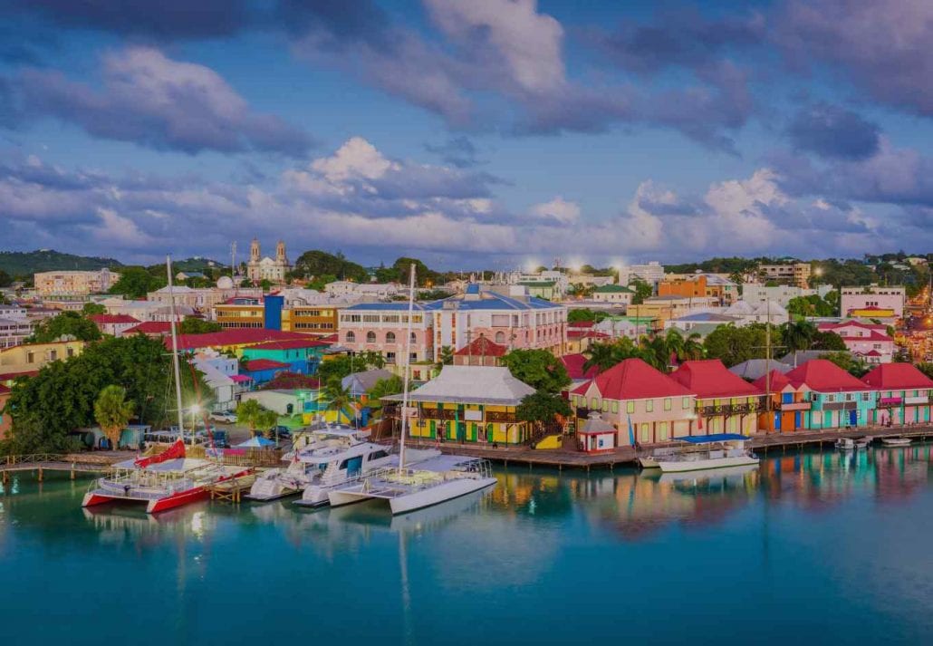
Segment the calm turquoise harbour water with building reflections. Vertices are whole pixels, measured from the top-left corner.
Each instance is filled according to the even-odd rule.
[[[930,643],[930,448],[695,480],[499,470],[391,518],[0,494],[0,626],[28,644]],[[9,639],[9,638],[13,639]]]

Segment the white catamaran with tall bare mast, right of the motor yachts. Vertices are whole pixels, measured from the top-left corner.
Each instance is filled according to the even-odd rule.
[[[408,340],[402,392],[401,441],[397,468],[374,470],[331,488],[327,499],[332,507],[368,499],[388,500],[393,514],[409,513],[481,491],[496,484],[489,461],[470,456],[435,456],[411,464],[405,453],[408,434],[409,383],[411,375],[411,320],[414,315],[414,265],[409,279]],[[412,468],[416,467],[416,468]]]

